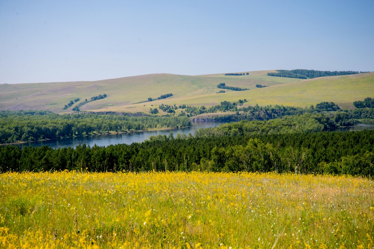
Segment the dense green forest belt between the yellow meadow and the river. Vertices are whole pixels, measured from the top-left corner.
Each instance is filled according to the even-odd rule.
[[[6,171],[250,171],[369,176],[374,130],[316,132],[325,121],[307,115],[271,122],[239,122],[176,137],[153,136],[131,145],[0,147]],[[310,123],[311,122],[311,123]]]

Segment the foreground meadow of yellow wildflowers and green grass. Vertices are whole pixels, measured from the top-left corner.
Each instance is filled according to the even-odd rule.
[[[5,173],[0,248],[373,248],[374,183],[252,173]]]

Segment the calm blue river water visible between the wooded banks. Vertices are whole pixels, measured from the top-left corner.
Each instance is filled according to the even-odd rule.
[[[174,137],[177,133],[186,134],[191,133],[194,135],[195,130],[205,127],[214,127],[219,126],[226,122],[191,122],[192,126],[187,128],[179,128],[179,129],[167,129],[167,130],[152,130],[152,131],[145,131],[145,132],[131,132],[131,133],[115,133],[115,134],[104,134],[104,135],[94,135],[94,136],[79,136],[75,138],[62,138],[62,139],[52,139],[48,141],[37,141],[37,142],[30,142],[19,144],[22,148],[24,146],[42,146],[47,145],[52,148],[58,147],[68,147],[72,146],[75,147],[79,144],[86,144],[98,146],[108,146],[111,144],[132,144],[134,142],[143,142],[144,140],[149,139],[150,136],[157,136],[157,135],[166,135],[168,136],[170,132],[174,132]],[[361,122],[356,126],[350,127],[343,127],[337,128],[333,131],[358,131],[358,130],[373,130],[374,129],[374,122]]]

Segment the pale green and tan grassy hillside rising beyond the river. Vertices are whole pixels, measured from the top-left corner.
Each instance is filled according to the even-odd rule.
[[[0,110],[70,112],[76,104],[62,110],[70,100],[89,100],[104,93],[107,98],[85,104],[80,110],[148,112],[152,104],[157,107],[161,103],[209,106],[244,98],[248,100],[247,105],[304,107],[333,101],[341,107],[352,108],[353,101],[374,97],[374,73],[300,80],[267,76],[267,72],[272,71],[255,71],[244,76],[151,74],[102,81],[3,84],[0,85]],[[226,90],[226,93],[216,94],[220,90],[217,84],[222,82],[250,90]],[[269,87],[256,88],[256,84]],[[139,103],[170,92],[173,94],[170,98]]]

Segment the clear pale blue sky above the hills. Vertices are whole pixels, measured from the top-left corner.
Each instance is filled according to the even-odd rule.
[[[374,71],[374,1],[0,0],[0,83]]]

